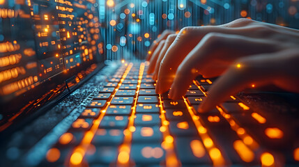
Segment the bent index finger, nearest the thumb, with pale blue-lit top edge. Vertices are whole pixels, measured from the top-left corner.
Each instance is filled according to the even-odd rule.
[[[256,40],[241,35],[208,33],[178,66],[169,97],[178,99],[198,74],[217,77],[237,58],[277,51],[280,47],[269,40]]]

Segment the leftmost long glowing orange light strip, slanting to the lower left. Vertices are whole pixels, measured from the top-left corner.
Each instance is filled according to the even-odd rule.
[[[121,81],[118,83],[118,85],[114,89],[114,92],[112,93],[112,97],[110,98],[110,100],[107,101],[107,105],[105,106],[104,109],[102,109],[100,111],[100,116],[97,119],[93,120],[93,125],[91,126],[91,129],[84,134],[84,137],[83,137],[81,143],[72,152],[72,155],[70,156],[70,161],[69,161],[70,166],[74,166],[74,165],[77,166],[82,163],[83,157],[86,154],[86,151],[89,148],[89,145],[91,145],[93,136],[95,136],[95,133],[98,130],[98,127],[100,125],[100,122],[102,121],[102,118],[105,116],[105,112],[106,112],[108,106],[110,105],[110,102],[112,101],[118,88],[123,83],[123,80],[125,79],[125,77],[127,77],[127,74],[130,72],[131,67],[132,67],[132,63],[130,63],[128,65],[125,72],[123,73],[123,77],[121,78]]]

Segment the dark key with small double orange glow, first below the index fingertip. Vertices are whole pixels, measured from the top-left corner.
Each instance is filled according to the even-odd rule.
[[[177,121],[184,121],[184,120],[191,120],[191,117],[187,111],[187,109],[165,109],[166,111],[166,119],[167,120],[177,120]]]

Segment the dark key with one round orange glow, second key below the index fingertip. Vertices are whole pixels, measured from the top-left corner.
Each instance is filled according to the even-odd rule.
[[[171,121],[169,131],[173,136],[197,136],[197,129],[190,121]]]

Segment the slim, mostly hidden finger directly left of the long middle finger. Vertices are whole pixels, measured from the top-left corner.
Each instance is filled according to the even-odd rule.
[[[164,57],[167,49],[169,48],[169,46],[172,44],[172,42],[174,42],[174,40],[176,39],[176,35],[177,34],[171,34],[168,35],[164,47],[162,48],[162,50],[160,51],[160,54],[158,56],[158,60],[155,63],[155,71],[153,73],[153,80],[157,80],[158,78],[158,72],[159,72],[159,68],[160,68],[160,63],[162,61],[162,58]]]

